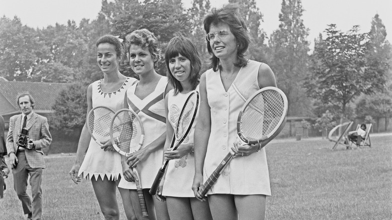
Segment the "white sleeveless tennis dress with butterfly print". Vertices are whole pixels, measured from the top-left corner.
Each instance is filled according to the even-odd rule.
[[[199,86],[196,88],[199,90]],[[168,92],[168,121],[173,129],[178,121],[179,113],[185,103],[189,93],[174,95],[174,90]],[[195,117],[192,128],[188,136],[182,142],[183,144],[193,143],[194,127],[197,124],[198,114]],[[191,189],[194,176],[194,155],[188,153],[180,159],[170,160],[167,166],[165,182],[163,184],[162,195],[173,197],[194,197]]]

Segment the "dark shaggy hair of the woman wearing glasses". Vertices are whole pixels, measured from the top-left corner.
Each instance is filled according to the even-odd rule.
[[[248,50],[250,38],[247,32],[245,21],[240,15],[239,6],[235,4],[229,4],[224,5],[221,9],[214,8],[211,13],[204,18],[203,23],[206,34],[210,32],[211,25],[217,25],[219,23],[227,24],[231,33],[233,33],[237,40],[237,61],[234,63],[234,66],[246,66],[248,59],[245,58],[245,52]],[[212,54],[210,68],[213,68],[214,71],[217,71],[219,68],[219,58],[214,55],[209,41],[207,41],[207,49],[208,52]]]

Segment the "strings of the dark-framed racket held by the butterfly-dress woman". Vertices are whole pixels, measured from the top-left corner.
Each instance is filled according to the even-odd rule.
[[[192,93],[190,97],[185,101],[183,106],[183,111],[181,111],[180,116],[177,121],[177,127],[175,130],[175,137],[176,139],[180,139],[188,129],[192,117],[193,117],[193,110],[195,107],[195,103],[197,102],[197,94]]]

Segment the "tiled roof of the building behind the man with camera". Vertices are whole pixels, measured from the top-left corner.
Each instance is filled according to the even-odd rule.
[[[52,110],[58,93],[68,83],[0,81],[0,95],[3,95],[19,111],[16,103],[18,93],[28,91],[35,100],[34,109]]]

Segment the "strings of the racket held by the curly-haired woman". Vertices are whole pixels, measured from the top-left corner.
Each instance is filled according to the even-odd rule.
[[[114,140],[117,140],[117,147],[125,153],[132,153],[141,147],[139,142],[142,136],[142,127],[131,112],[123,112],[116,116],[112,133]]]

